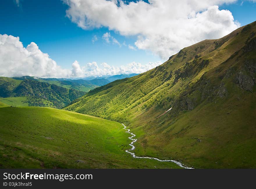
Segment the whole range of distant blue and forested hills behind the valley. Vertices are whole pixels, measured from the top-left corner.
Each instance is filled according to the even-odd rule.
[[[130,75],[116,75],[113,81]],[[42,106],[61,109],[86,92],[110,82],[105,78],[92,80],[67,78],[37,78],[33,76],[0,77],[0,102],[12,106]]]

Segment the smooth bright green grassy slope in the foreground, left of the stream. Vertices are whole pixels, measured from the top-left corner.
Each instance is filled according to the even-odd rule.
[[[2,107],[0,120],[0,168],[179,168],[131,157],[118,122],[43,107]]]

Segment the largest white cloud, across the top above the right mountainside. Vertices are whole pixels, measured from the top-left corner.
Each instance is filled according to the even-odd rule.
[[[138,49],[164,59],[183,47],[220,38],[240,26],[229,10],[218,8],[236,0],[63,1],[69,5],[67,16],[79,27],[104,26],[124,36],[137,36]]]

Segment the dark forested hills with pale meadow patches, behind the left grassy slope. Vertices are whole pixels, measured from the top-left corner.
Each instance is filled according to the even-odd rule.
[[[62,108],[85,92],[66,89],[47,82],[0,77],[0,101],[12,106],[49,106]]]

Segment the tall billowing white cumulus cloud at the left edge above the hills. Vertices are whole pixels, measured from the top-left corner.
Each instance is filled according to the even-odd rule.
[[[62,69],[31,42],[23,47],[19,37],[0,34],[0,75],[38,77],[70,77],[71,71]]]

